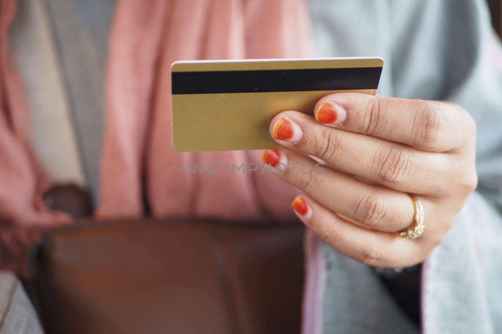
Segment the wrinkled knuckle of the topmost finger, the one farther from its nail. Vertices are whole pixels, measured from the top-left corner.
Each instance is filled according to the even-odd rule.
[[[418,148],[435,148],[444,128],[445,108],[432,101],[417,100],[416,103],[410,142]]]

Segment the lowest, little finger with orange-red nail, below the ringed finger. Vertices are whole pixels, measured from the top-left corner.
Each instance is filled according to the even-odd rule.
[[[358,227],[306,194],[298,196],[292,207],[314,234],[356,261],[372,266],[399,267],[423,260],[423,249],[417,240]]]

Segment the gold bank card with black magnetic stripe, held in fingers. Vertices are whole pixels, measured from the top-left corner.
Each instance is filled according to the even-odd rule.
[[[331,93],[375,95],[382,58],[178,61],[171,65],[176,152],[280,147],[269,134],[275,115],[313,115]]]

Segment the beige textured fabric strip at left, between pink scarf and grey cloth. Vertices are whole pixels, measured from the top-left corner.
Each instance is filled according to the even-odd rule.
[[[53,30],[43,1],[19,2],[9,37],[24,79],[30,144],[54,182],[85,185],[80,150]],[[29,78],[29,80],[26,80]],[[57,147],[57,149],[55,149]]]

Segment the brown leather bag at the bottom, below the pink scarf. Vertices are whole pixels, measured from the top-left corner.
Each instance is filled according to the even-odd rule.
[[[46,234],[28,286],[47,333],[298,333],[304,228],[80,222]]]

